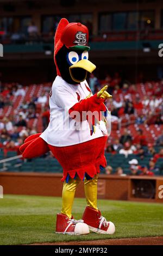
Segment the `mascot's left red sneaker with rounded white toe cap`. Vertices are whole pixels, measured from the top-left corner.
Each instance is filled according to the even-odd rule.
[[[68,235],[87,235],[89,227],[83,220],[76,221],[65,214],[57,214],[56,233]]]

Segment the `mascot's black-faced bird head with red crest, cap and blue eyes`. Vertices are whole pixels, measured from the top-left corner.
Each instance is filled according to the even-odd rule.
[[[89,32],[81,23],[68,23],[61,19],[54,38],[54,62],[57,75],[67,83],[77,84],[85,80],[87,72],[96,66],[88,60]]]

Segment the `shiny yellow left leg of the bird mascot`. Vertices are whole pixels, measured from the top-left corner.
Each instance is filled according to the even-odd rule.
[[[62,210],[61,214],[65,214],[68,218],[71,218],[72,205],[74,200],[74,194],[76,188],[80,182],[80,179],[77,177],[75,180],[70,179],[68,183],[64,181],[62,189]]]

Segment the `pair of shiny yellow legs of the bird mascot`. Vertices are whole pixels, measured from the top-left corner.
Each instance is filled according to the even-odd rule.
[[[87,206],[98,210],[97,208],[97,179],[98,176],[95,175],[93,179],[84,180],[84,191],[86,197]],[[64,181],[63,189],[62,189],[62,210],[61,213],[67,215],[71,218],[72,205],[74,200],[74,195],[76,192],[76,188],[80,182],[80,179],[77,177],[76,179],[69,179],[68,183]]]

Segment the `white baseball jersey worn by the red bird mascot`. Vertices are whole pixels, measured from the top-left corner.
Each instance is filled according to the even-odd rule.
[[[65,147],[103,136],[98,125],[96,125],[96,132],[91,136],[87,120],[76,121],[68,114],[72,106],[90,94],[86,87],[89,88],[86,80],[73,85],[60,76],[55,78],[49,95],[50,122],[47,129],[40,135],[48,144]]]

